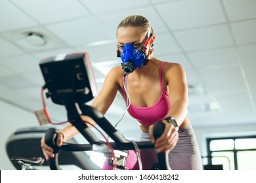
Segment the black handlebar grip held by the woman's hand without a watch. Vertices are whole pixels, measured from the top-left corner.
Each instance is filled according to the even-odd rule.
[[[53,148],[54,158],[49,158],[49,166],[51,170],[58,170],[60,167],[58,166],[58,152],[60,151],[60,147],[57,146],[57,135],[56,130],[54,128],[49,128],[45,132],[45,144]]]

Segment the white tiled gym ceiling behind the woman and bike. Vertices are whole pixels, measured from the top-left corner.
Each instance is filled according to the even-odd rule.
[[[184,67],[194,126],[256,123],[256,0],[1,0],[0,100],[41,109],[39,61],[61,53],[87,52],[100,90],[120,64],[116,27],[131,14],[150,20],[154,57]],[[47,44],[26,44],[28,31]],[[65,118],[63,107],[49,99],[47,107],[54,120]],[[124,111],[117,94],[106,115],[117,121]]]

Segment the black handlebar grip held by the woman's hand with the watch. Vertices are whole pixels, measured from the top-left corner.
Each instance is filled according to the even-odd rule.
[[[162,121],[156,122],[153,128],[154,139],[161,137],[164,130],[165,124]],[[165,154],[165,152],[158,153],[158,163],[160,170],[171,170],[171,167],[169,166],[168,154]]]

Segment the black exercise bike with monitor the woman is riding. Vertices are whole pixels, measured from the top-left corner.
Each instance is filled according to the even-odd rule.
[[[126,139],[122,133],[108,122],[104,115],[89,105],[88,101],[96,95],[96,84],[93,70],[87,53],[66,54],[43,59],[40,63],[41,72],[45,80],[43,90],[47,89],[47,97],[51,97],[53,103],[64,105],[68,114],[68,122],[74,125],[89,144],[77,144],[64,142],[61,147],[56,146],[56,129],[49,128],[45,133],[45,142],[54,150],[54,158],[49,159],[50,169],[61,169],[59,165],[60,152],[102,152],[106,157],[106,167],[110,169],[129,169],[129,152],[131,150],[153,149],[150,141],[135,142]],[[43,110],[45,120],[50,120],[47,111]],[[96,124],[114,141],[101,141],[88,127],[81,115],[91,117]],[[159,121],[154,125],[154,138],[161,136],[165,124]],[[141,159],[137,153],[139,169],[142,169]],[[95,166],[86,169],[97,169]],[[158,154],[158,165],[152,169],[171,169],[168,156],[165,153]]]

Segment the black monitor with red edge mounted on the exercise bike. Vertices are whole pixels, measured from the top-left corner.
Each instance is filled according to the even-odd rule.
[[[65,105],[63,97],[74,103],[86,103],[97,94],[93,69],[88,54],[60,54],[42,59],[39,63],[53,103]]]

